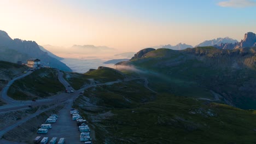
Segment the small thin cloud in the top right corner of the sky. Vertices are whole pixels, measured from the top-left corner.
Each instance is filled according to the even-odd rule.
[[[256,1],[252,0],[229,0],[219,2],[220,7],[231,7],[231,8],[245,8],[245,7],[256,7]]]

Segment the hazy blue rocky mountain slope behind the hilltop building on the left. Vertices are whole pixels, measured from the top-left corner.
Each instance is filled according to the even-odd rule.
[[[60,57],[53,55],[53,53],[48,55],[48,51],[41,50],[35,41],[11,39],[6,32],[0,31],[0,60],[13,63],[22,61],[26,63],[29,58],[38,58],[42,64],[49,67],[72,71],[66,64],[58,60],[61,59]]]

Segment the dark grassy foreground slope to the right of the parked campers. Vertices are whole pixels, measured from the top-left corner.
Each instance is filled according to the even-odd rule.
[[[90,88],[74,107],[94,143],[254,143],[255,111],[153,93],[143,80]]]

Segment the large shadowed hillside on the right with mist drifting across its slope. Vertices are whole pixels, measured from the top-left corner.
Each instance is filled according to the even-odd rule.
[[[219,103],[256,109],[256,48],[158,49],[130,63],[155,91],[212,100],[213,91],[222,98]]]

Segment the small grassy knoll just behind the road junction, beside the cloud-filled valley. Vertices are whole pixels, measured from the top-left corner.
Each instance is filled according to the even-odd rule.
[[[85,74],[65,72],[65,79],[74,89],[82,88],[85,84],[111,82],[123,80],[124,78],[125,75],[120,73],[120,71],[106,67],[102,67]]]

